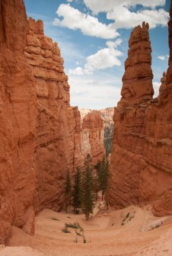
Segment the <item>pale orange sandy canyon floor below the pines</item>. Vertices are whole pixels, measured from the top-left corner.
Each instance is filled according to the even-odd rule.
[[[43,210],[36,217],[35,235],[12,228],[8,245],[0,247],[0,256],[171,256],[172,217],[155,217],[148,207],[129,206],[123,210],[94,211],[88,221],[83,214]],[[98,213],[97,213],[98,212]],[[62,232],[66,223],[79,222],[86,243],[71,233]],[[123,223],[123,224],[122,224]]]

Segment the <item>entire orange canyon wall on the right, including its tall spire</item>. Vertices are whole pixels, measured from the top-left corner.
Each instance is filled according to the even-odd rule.
[[[148,24],[132,30],[122,98],[113,116],[110,204],[116,208],[151,204],[157,216],[172,214],[171,31],[170,19],[167,85],[164,73],[160,94],[153,99]]]

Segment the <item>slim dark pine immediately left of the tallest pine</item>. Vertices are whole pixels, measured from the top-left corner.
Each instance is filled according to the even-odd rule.
[[[78,208],[81,207],[81,171],[77,168],[73,178],[73,190],[72,190],[72,203],[74,206],[74,212],[78,213]]]

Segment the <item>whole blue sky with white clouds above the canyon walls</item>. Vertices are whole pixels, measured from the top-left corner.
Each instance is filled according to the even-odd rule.
[[[115,107],[131,30],[150,26],[154,91],[167,70],[170,0],[24,0],[27,16],[44,23],[59,44],[71,86],[71,105]]]

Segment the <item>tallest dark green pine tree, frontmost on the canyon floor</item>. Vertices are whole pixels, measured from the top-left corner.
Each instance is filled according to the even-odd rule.
[[[91,156],[88,154],[84,161],[84,171],[81,178],[81,210],[88,220],[93,213],[95,204],[94,177],[91,167]]]

